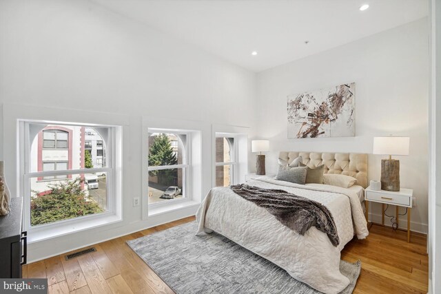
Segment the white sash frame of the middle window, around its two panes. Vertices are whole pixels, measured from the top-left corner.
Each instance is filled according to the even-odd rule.
[[[158,166],[154,166],[154,167],[150,167],[148,165],[148,156],[150,154],[150,147],[148,145],[149,143],[149,138],[152,134],[174,134],[174,135],[185,135],[186,136],[186,142],[185,144],[183,144],[183,157],[185,159],[185,163],[179,164],[179,165],[158,165]],[[191,149],[192,148],[192,132],[189,131],[185,131],[183,129],[180,130],[176,130],[176,129],[159,129],[159,128],[152,128],[149,127],[147,128],[147,177],[149,175],[150,171],[158,171],[158,170],[163,170],[163,169],[183,169],[183,187],[182,187],[182,198],[176,198],[176,199],[170,199],[170,200],[166,200],[166,201],[160,201],[160,202],[156,202],[156,203],[148,203],[147,207],[164,207],[170,204],[175,204],[177,202],[185,202],[185,201],[189,201],[192,200],[191,197],[191,193],[190,191],[192,191],[191,189],[191,173],[192,173],[192,158],[191,158]],[[147,178],[147,193],[148,193],[148,188],[150,187],[149,183],[148,183],[148,178]],[[147,196],[148,197],[148,196]],[[148,198],[147,198],[148,199]]]

